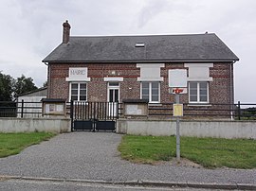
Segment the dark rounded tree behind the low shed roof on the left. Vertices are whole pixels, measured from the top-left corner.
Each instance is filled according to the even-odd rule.
[[[26,78],[24,75],[21,78],[17,78],[14,84],[14,96],[37,90],[32,78]]]

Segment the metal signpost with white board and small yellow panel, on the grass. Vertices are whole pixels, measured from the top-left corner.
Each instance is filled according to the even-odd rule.
[[[170,93],[175,94],[174,117],[176,118],[176,160],[180,161],[179,117],[183,116],[183,104],[179,103],[179,95],[187,94],[187,70],[169,70]]]

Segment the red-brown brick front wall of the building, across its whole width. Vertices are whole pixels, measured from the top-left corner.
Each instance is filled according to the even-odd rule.
[[[107,101],[107,82],[103,80],[105,77],[123,78],[120,82],[120,100],[125,98],[140,97],[140,83],[137,78],[140,75],[139,68],[136,63],[52,63],[48,69],[48,96],[50,98],[65,98],[68,100],[69,85],[65,81],[68,77],[69,67],[87,67],[88,78],[91,81],[87,83],[88,101]],[[168,87],[168,70],[169,69],[185,69],[183,63],[166,63],[161,68],[161,77],[164,81],[160,83],[161,102],[174,102],[174,95],[169,94]],[[188,69],[188,68],[186,68]],[[231,70],[231,72],[230,72]],[[210,103],[230,103],[233,101],[233,78],[232,63],[216,62],[210,68]],[[231,75],[231,79],[230,79]],[[189,96],[180,96],[181,102],[188,103]]]

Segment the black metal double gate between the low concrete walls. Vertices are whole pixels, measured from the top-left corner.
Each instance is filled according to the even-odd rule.
[[[116,130],[118,102],[74,102],[70,105],[71,130]]]

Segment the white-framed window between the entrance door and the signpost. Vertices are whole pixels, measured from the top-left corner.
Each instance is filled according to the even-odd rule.
[[[160,82],[159,81],[142,81],[141,98],[148,99],[150,103],[160,102]]]

